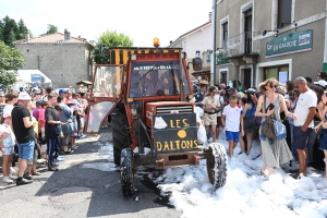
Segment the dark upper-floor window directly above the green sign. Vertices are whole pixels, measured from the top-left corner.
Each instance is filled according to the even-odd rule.
[[[282,28],[292,21],[292,0],[278,0],[277,27]]]

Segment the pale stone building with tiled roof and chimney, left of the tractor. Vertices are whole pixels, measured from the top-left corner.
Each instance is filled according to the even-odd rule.
[[[85,38],[55,33],[16,40],[14,46],[24,53],[26,65],[23,70],[39,70],[45,73],[53,87],[74,86],[78,81],[89,81],[93,75],[90,52],[94,46]]]

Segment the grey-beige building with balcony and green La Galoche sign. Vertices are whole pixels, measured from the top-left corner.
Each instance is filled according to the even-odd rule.
[[[215,83],[315,81],[327,71],[326,10],[326,0],[217,0]]]

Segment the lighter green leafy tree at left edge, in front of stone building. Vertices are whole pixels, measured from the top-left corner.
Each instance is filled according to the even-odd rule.
[[[17,81],[17,70],[25,65],[24,55],[16,48],[0,41],[0,87],[8,87]]]

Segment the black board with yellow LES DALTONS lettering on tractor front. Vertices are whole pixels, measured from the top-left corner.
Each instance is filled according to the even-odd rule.
[[[195,113],[154,116],[156,154],[198,150]]]

